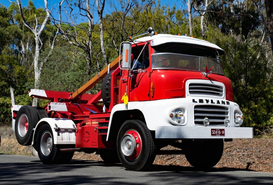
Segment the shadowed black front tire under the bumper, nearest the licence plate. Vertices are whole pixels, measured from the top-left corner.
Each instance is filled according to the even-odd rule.
[[[215,166],[221,159],[224,150],[223,139],[209,139],[204,142],[191,141],[188,146],[190,152],[185,154],[186,159],[198,169]]]

